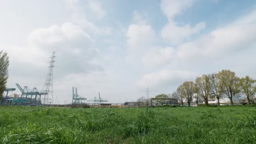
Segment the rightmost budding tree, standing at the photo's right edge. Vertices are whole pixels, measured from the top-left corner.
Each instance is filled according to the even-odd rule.
[[[240,82],[239,82],[241,91],[243,94],[246,95],[249,105],[251,105],[250,97],[252,97],[255,93],[255,89],[256,89],[255,82],[256,80],[253,80],[249,76],[242,77],[242,79],[240,79]]]

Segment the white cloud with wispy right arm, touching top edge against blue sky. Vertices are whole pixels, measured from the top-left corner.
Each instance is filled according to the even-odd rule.
[[[168,44],[178,45],[191,35],[199,33],[205,28],[205,22],[199,22],[194,27],[190,24],[179,26],[173,20],[174,16],[181,14],[183,10],[193,5],[193,0],[163,0],[160,4],[162,12],[166,15],[168,23],[162,28],[161,36]]]

